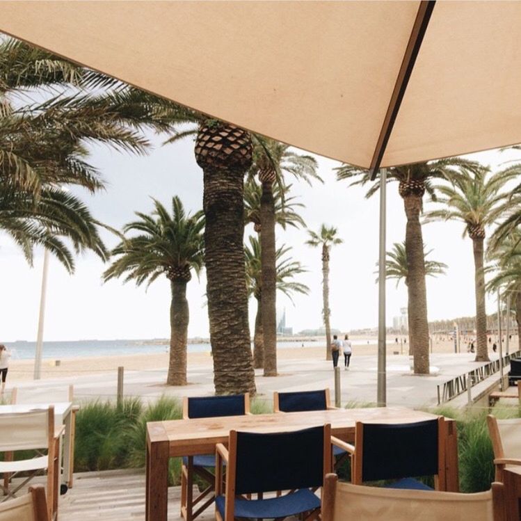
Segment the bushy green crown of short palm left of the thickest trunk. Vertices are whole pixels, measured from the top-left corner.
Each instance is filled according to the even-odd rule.
[[[172,198],[172,214],[154,200],[152,216],[136,212],[139,221],[128,223],[125,234],[140,232],[125,238],[112,250],[119,256],[105,271],[104,280],[127,275],[125,282],[150,285],[163,274],[170,280],[191,279],[191,268],[199,273],[203,263],[202,229],[204,219],[199,211],[186,214],[181,200]]]

